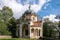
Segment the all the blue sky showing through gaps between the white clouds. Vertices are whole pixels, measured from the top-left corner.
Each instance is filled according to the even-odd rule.
[[[17,0],[16,0],[17,1]],[[17,1],[18,3],[21,3],[22,5],[25,5],[24,3],[26,2],[26,0],[21,0],[21,1]],[[29,4],[34,5],[34,4],[38,4],[39,0],[30,0]],[[47,16],[50,14],[54,14],[54,15],[60,15],[60,0],[51,0],[49,2],[46,2],[41,10],[39,10],[38,15],[43,17],[43,16]]]

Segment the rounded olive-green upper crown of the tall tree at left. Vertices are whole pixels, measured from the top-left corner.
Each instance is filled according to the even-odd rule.
[[[4,6],[2,10],[3,17],[5,23],[7,23],[13,16],[13,12],[9,7]]]

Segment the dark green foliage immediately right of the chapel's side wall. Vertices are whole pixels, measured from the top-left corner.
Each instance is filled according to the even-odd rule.
[[[45,37],[54,37],[55,36],[55,32],[54,32],[54,23],[50,22],[50,21],[46,21],[43,24],[43,36]]]

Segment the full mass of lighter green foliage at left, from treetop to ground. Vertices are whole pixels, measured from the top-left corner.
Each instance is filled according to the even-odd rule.
[[[0,35],[10,35],[8,23],[13,16],[13,12],[9,7],[4,6],[0,10]]]

